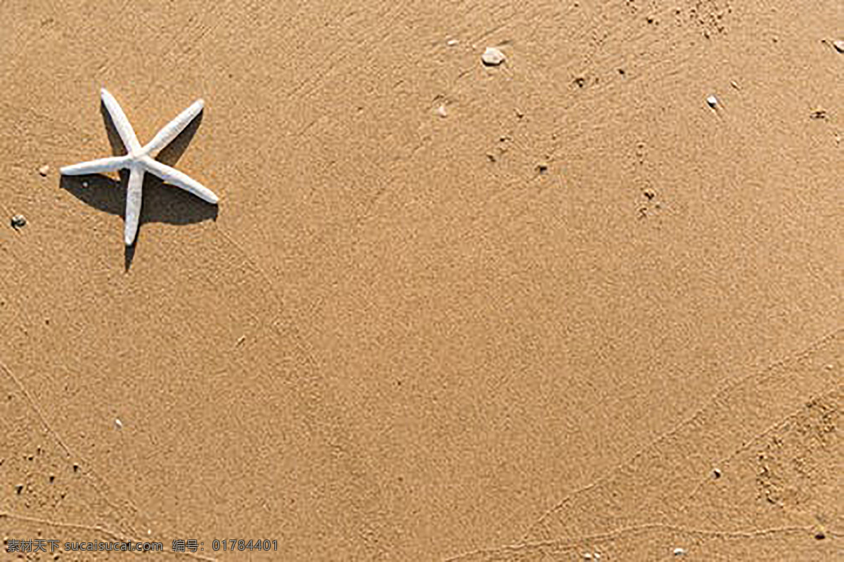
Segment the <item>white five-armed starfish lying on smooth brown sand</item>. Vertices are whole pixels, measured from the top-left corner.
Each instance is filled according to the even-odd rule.
[[[214,195],[213,191],[200,184],[196,179],[190,178],[187,174],[182,174],[179,170],[154,160],[155,155],[170,144],[176,136],[179,136],[179,133],[184,131],[193,118],[203,110],[204,102],[202,99],[193,102],[187,110],[182,111],[176,116],[176,119],[171,120],[163,129],[158,131],[153,140],[142,147],[138,142],[138,137],[135,136],[132,125],[126,118],[126,114],[123,113],[114,96],[109,94],[106,88],[102,88],[101,95],[103,104],[106,105],[106,110],[111,115],[111,121],[126,147],[126,155],[73,164],[73,166],[65,166],[60,171],[64,175],[81,175],[114,172],[119,169],[129,170],[129,185],[126,194],[126,225],[123,231],[123,239],[127,246],[134,243],[135,235],[138,233],[138,220],[141,217],[141,199],[143,197],[143,174],[146,172],[157,175],[165,183],[181,187],[181,189],[196,195],[200,199],[216,205],[219,197]]]

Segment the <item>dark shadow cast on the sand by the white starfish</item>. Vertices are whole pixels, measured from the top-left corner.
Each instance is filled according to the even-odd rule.
[[[173,166],[181,155],[187,150],[193,136],[196,134],[200,123],[203,120],[204,111],[185,127],[167,147],[158,155],[156,160]],[[100,104],[100,114],[106,124],[111,152],[115,156],[122,156],[126,153],[123,142],[114,122],[111,120],[105,104]],[[89,206],[100,211],[106,211],[112,215],[124,217],[126,212],[126,192],[129,181],[129,171],[122,169],[119,172],[120,180],[111,179],[103,174],[90,175],[62,175],[60,187],[68,190],[79,201],[84,201]],[[166,222],[168,224],[192,224],[207,220],[217,220],[218,207],[198,200],[184,190],[180,190],[155,177],[153,174],[145,174],[143,177],[143,206],[141,206],[140,225],[145,222]],[[124,217],[125,219],[125,217]],[[125,266],[126,270],[132,265],[135,254],[135,245],[126,247]]]

